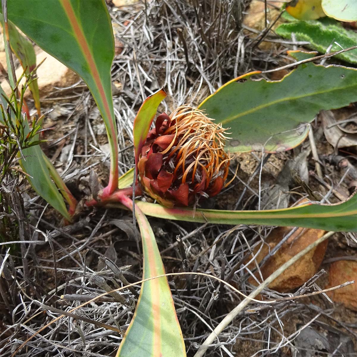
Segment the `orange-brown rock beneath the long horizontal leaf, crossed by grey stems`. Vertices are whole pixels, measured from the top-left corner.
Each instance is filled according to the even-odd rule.
[[[292,227],[278,227],[275,228],[268,236],[265,245],[263,245],[261,252],[258,254],[256,261],[260,263],[261,260],[272,250]],[[302,251],[312,242],[323,236],[325,231],[318,229],[298,228],[297,231],[281,246],[281,248],[269,258],[265,265],[261,268],[263,279],[265,280],[280,266],[286,263],[290,258],[295,256],[298,252]],[[305,254],[302,258],[296,261],[291,267],[277,277],[270,285],[269,288],[286,292],[303,285],[317,272],[321,265],[323,257],[325,256],[327,247],[327,240],[320,243],[316,248]],[[255,253],[258,247],[255,249]],[[255,267],[255,263],[250,264],[250,269]],[[259,275],[256,272],[255,276]],[[251,277],[248,280],[253,285],[257,285],[256,281]]]

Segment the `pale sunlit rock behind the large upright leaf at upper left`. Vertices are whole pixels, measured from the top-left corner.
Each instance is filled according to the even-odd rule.
[[[47,54],[45,51],[40,51],[36,55],[36,64],[38,65],[42,60],[45,61],[37,69],[37,83],[39,86],[40,97],[46,97],[56,87],[68,87],[79,80],[79,76],[68,69],[60,61],[56,60],[54,57]],[[16,76],[20,77],[22,75],[22,67],[16,69]],[[11,93],[10,86],[4,80],[1,82],[1,87],[7,95]],[[30,90],[27,89],[25,92],[25,99],[31,97]]]

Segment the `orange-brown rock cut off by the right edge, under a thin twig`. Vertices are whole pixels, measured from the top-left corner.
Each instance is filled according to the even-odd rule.
[[[328,286],[340,285],[346,281],[354,280],[355,283],[343,288],[327,292],[333,302],[342,302],[351,310],[357,311],[357,262],[353,260],[339,260],[333,262],[328,273]]]

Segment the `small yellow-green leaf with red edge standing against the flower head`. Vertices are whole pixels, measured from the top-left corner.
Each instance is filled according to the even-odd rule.
[[[142,145],[144,145],[151,123],[155,118],[157,108],[165,97],[166,92],[164,89],[157,91],[145,99],[136,114],[133,130],[136,165],[139,161]]]

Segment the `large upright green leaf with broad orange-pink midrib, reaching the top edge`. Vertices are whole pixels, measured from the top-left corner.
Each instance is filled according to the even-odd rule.
[[[103,117],[111,150],[108,191],[118,181],[118,148],[111,92],[114,36],[104,0],[7,0],[9,19],[86,82]]]

